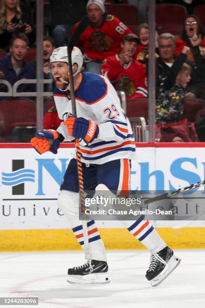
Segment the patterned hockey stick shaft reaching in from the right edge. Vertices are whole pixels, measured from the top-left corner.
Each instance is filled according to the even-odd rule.
[[[194,188],[201,187],[203,185],[205,185],[205,180],[203,180],[201,182],[197,182],[195,184],[191,184],[191,185],[186,186],[186,187],[182,187],[182,188],[173,190],[170,193],[165,193],[165,194],[153,197],[153,198],[149,198],[149,199],[145,200],[144,203],[146,205],[146,204],[150,204],[150,203],[153,203],[153,202],[156,202],[156,201],[160,201],[160,200],[163,200],[163,199],[171,198],[173,196],[176,196],[178,194],[187,192],[187,191],[192,190]]]

